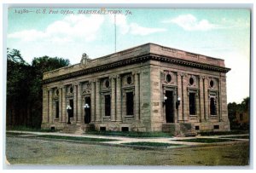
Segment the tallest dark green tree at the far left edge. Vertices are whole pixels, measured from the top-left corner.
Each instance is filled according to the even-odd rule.
[[[26,121],[27,95],[31,66],[23,60],[20,51],[7,49],[7,124],[28,124]]]

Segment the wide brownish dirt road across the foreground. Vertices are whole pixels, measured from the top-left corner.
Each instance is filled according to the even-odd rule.
[[[227,146],[139,150],[67,141],[7,136],[10,164],[247,165],[248,143]]]

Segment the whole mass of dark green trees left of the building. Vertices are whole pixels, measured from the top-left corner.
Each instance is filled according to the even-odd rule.
[[[68,66],[69,61],[43,56],[29,65],[17,49],[7,49],[7,61],[7,125],[40,128],[43,73]]]

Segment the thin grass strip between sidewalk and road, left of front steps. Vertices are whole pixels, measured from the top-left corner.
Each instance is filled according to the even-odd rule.
[[[113,139],[102,139],[102,138],[90,138],[90,137],[75,137],[75,136],[37,136],[37,137],[44,137],[50,139],[63,139],[63,140],[73,140],[73,141],[118,141]]]

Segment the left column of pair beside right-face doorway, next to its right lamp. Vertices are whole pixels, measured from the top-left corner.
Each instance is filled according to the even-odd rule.
[[[183,122],[183,73],[177,73],[177,97],[180,98],[180,103],[177,108],[177,122]],[[175,107],[176,108],[176,107]]]

